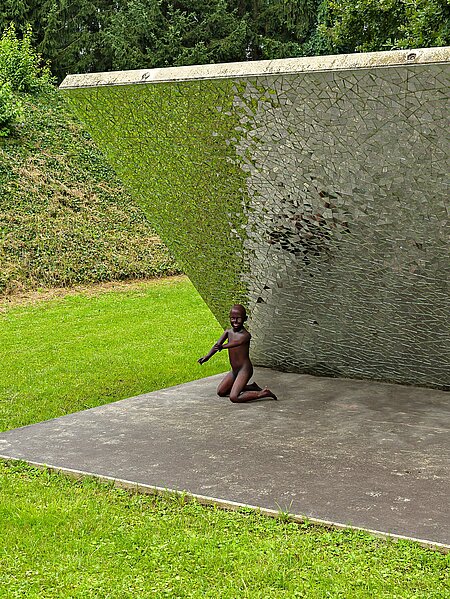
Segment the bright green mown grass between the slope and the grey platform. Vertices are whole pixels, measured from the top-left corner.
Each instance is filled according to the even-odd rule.
[[[228,369],[200,366],[222,329],[186,278],[0,313],[0,430]]]

